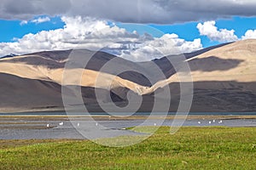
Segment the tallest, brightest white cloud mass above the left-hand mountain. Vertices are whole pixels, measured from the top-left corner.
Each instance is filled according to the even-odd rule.
[[[113,40],[137,38],[117,26],[108,26],[105,20],[82,17],[62,17],[66,26],[51,31],[40,31],[37,34],[26,34],[16,42],[0,43],[0,54],[26,54],[42,50],[66,48],[102,48]],[[78,44],[79,43],[79,44]]]

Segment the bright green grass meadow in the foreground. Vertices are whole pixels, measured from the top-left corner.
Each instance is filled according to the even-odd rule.
[[[169,130],[160,127],[149,139],[125,148],[87,140],[0,140],[0,169],[256,167],[255,127],[183,127],[174,135]]]

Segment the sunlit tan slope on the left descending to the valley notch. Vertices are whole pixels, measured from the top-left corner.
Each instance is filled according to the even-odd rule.
[[[39,53],[18,56],[15,58],[0,59],[0,72],[17,77],[55,82],[60,85],[80,85],[83,87],[105,89],[118,87],[129,88],[138,94],[140,94],[139,89],[144,88],[136,83],[143,80],[142,75],[135,75],[136,77],[132,78],[132,73],[130,73],[126,74],[124,77],[127,78],[124,79],[97,71],[99,69],[97,67],[104,64],[104,62],[100,63],[101,58],[98,56],[94,58],[95,60],[93,62],[90,62],[91,64],[88,66],[90,69],[87,67],[86,69],[64,69],[66,57],[64,59],[59,57],[54,60],[52,59],[52,56],[49,57],[48,55],[45,58],[45,53],[46,52],[44,52],[43,55],[39,55]],[[49,52],[49,54],[50,53],[51,52]],[[70,51],[67,51],[67,53],[70,53]],[[61,54],[63,54],[62,51]],[[113,56],[109,55],[108,59],[113,59]],[[127,61],[125,59],[119,59],[116,62],[119,65],[121,65],[121,63],[124,63],[124,65],[131,65],[131,61]],[[131,70],[132,66],[134,65],[131,65]],[[64,71],[65,78],[63,79]],[[131,82],[129,79],[138,80]],[[148,82],[145,83],[147,84]]]

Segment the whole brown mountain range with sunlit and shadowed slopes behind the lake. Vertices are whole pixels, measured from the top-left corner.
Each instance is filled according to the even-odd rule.
[[[81,79],[63,81],[71,54],[79,53],[88,63],[72,69]],[[256,40],[230,42],[189,54],[169,55],[148,62],[132,62],[105,52],[90,50],[44,51],[0,59],[0,112],[64,111],[61,88],[81,87],[89,111],[102,111],[95,89],[105,105],[127,105],[127,94],[143,97],[138,111],[151,111],[161,89],[171,91],[169,111],[177,111],[180,82],[176,65],[169,60],[184,56],[193,80],[193,112],[256,111]],[[90,59],[89,59],[90,58]],[[102,66],[114,65],[110,71]],[[157,65],[164,77],[154,67]],[[111,65],[110,65],[111,66]],[[127,71],[115,75],[114,71]],[[153,71],[152,71],[153,70]],[[143,75],[144,71],[148,77]],[[101,75],[101,80],[97,77]],[[98,82],[97,82],[98,81]],[[108,85],[111,84],[111,88]],[[71,92],[72,93],[72,92]],[[110,95],[111,98],[108,96]],[[98,99],[99,100],[99,99]],[[165,102],[165,101],[162,101]],[[75,105],[75,104],[74,104]]]

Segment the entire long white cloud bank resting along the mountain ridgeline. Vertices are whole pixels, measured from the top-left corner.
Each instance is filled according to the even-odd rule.
[[[65,22],[64,28],[29,33],[16,42],[1,42],[0,55],[69,48],[103,48],[125,59],[141,61],[159,58],[163,54],[179,54],[202,48],[200,39],[186,42],[176,34],[166,34],[160,38],[149,34],[139,35],[137,31],[128,32],[114,24],[109,26],[106,20],[80,16],[61,17],[61,20]]]

